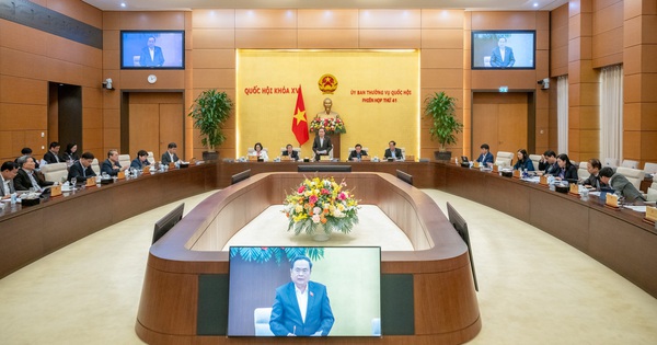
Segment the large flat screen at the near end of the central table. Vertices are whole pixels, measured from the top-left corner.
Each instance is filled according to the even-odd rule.
[[[381,336],[381,248],[229,251],[228,336]],[[297,284],[307,284],[304,322]]]

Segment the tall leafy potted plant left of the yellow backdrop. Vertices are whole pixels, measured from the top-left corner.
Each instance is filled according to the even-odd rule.
[[[208,150],[203,152],[205,161],[217,160],[219,152],[217,146],[226,141],[226,136],[221,129],[230,112],[233,102],[226,92],[219,92],[215,89],[201,92],[194,101],[192,112],[188,114],[194,119],[194,128],[200,130],[200,143]]]

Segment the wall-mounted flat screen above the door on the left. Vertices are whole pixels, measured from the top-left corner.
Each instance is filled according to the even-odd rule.
[[[122,31],[122,69],[184,69],[184,31]]]

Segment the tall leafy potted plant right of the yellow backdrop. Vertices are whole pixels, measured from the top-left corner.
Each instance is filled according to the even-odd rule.
[[[440,148],[434,152],[436,160],[450,160],[451,152],[447,151],[448,145],[457,143],[456,134],[463,130],[463,124],[454,117],[457,99],[447,95],[445,91],[436,92],[425,100],[425,116],[433,119],[429,134],[431,140],[438,139]]]

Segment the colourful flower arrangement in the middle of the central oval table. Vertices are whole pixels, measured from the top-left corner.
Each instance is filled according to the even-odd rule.
[[[288,231],[293,228],[295,234],[314,234],[322,227],[326,234],[351,231],[358,223],[359,207],[346,186],[344,181],[338,184],[333,177],[304,179],[283,203],[283,212],[289,219]]]

